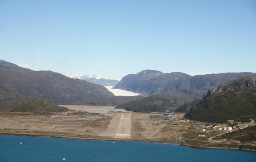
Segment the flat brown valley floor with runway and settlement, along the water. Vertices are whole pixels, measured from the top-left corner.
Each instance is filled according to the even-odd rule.
[[[65,107],[70,111],[49,116],[0,112],[0,134],[111,141],[157,141],[182,143],[197,148],[256,151],[256,143],[241,144],[239,141],[228,139],[213,139],[229,130],[207,128],[203,132],[201,127],[205,127],[206,123],[179,122],[184,113],[176,113],[174,119],[164,120],[161,113],[133,113],[123,109],[110,112],[114,107]],[[191,125],[199,125],[199,128],[187,129]],[[255,125],[255,122],[247,125]]]

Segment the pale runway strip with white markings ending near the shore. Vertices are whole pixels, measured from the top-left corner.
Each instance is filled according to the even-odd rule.
[[[123,113],[120,117],[115,138],[130,139],[131,138],[131,115]]]

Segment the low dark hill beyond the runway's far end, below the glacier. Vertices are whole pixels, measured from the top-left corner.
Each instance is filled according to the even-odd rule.
[[[181,97],[149,96],[126,102],[115,108],[134,112],[165,112],[166,110],[169,111],[169,108],[179,107],[187,102],[189,102],[189,99]]]

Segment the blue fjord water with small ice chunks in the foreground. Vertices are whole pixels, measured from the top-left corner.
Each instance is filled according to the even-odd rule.
[[[21,144],[22,143],[22,144]],[[63,160],[65,158],[65,160]],[[255,162],[256,153],[164,143],[0,135],[0,162]]]

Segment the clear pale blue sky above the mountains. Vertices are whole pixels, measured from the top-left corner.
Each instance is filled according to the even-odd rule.
[[[256,72],[256,0],[0,0],[0,59],[105,79]]]

